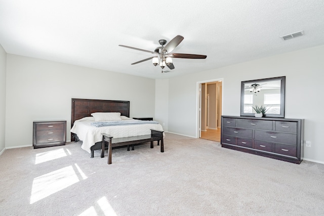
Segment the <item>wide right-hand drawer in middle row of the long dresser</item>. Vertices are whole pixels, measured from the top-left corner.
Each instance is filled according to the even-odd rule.
[[[264,140],[268,142],[275,143],[285,143],[296,146],[297,144],[297,135],[296,134],[286,134],[279,132],[270,132],[270,131],[255,131],[255,139]]]

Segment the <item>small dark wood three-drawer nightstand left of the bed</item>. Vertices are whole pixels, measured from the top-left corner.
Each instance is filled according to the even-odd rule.
[[[66,121],[34,121],[32,143],[34,149],[65,145]]]

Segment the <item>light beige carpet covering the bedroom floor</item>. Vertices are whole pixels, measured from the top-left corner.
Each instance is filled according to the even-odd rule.
[[[293,164],[166,134],[112,151],[7,149],[0,215],[324,215],[324,164]]]

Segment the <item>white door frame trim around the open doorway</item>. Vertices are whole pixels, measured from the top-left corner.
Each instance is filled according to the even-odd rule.
[[[208,82],[222,81],[222,101],[224,96],[224,78],[209,79],[203,81],[197,81],[196,83],[196,138],[201,137],[201,84]],[[222,114],[223,114],[223,102],[222,102]]]

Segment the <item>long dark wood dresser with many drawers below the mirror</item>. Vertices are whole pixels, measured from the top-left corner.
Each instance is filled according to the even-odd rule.
[[[224,148],[299,164],[303,139],[303,119],[222,116]]]

